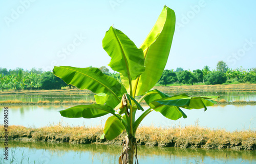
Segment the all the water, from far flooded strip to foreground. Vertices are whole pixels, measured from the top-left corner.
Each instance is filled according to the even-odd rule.
[[[218,94],[218,93],[217,93]],[[227,94],[227,93],[225,93]],[[241,95],[240,93],[220,94],[219,99],[226,101],[256,101],[253,94]],[[196,93],[194,93],[196,95]],[[214,95],[209,93],[207,95]],[[15,95],[15,97],[0,96],[1,100],[18,99],[25,102],[39,100],[92,100],[89,94],[54,94],[54,95]],[[30,96],[30,97],[28,97]],[[94,119],[65,118],[61,117],[60,110],[65,110],[74,105],[22,105],[8,106],[9,125],[22,125],[26,127],[42,127],[52,124],[104,126],[106,119],[111,115]],[[147,106],[143,106],[145,109]],[[0,108],[0,121],[3,122],[4,108]],[[214,105],[207,107],[207,111],[185,110],[187,118],[177,121],[169,120],[160,113],[153,111],[142,122],[143,126],[179,127],[199,125],[211,129],[224,128],[234,130],[256,130],[256,105]],[[139,111],[137,114],[140,114]],[[139,115],[137,115],[138,117]],[[4,143],[0,142],[1,152]],[[70,143],[30,143],[9,141],[8,156],[14,163],[118,163],[120,146],[114,145],[72,145]],[[0,153],[0,163],[5,161]],[[174,147],[146,147],[138,146],[139,163],[256,163],[256,151],[241,150],[208,150],[208,149],[180,149]]]

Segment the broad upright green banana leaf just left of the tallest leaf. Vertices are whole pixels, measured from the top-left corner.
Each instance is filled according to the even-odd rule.
[[[134,42],[120,30],[111,26],[102,40],[102,46],[111,57],[109,66],[114,71],[120,72],[129,80],[136,79],[144,72],[142,49],[137,48]]]

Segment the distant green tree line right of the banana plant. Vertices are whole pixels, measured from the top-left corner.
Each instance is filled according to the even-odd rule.
[[[216,70],[210,71],[208,66],[202,70],[194,71],[183,70],[178,67],[174,70],[164,70],[158,81],[159,85],[167,86],[170,84],[188,84],[204,83],[206,85],[216,84],[239,84],[239,83],[256,83],[256,68],[248,70],[230,69],[225,62],[219,61]]]

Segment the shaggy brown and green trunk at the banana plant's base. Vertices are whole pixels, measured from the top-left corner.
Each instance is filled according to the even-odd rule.
[[[136,138],[133,135],[125,136],[122,144],[122,154],[119,157],[119,164],[133,164],[134,151],[136,149],[135,160],[137,163],[137,145]]]

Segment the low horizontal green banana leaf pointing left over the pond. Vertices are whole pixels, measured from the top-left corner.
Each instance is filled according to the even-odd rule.
[[[115,111],[112,107],[101,104],[90,104],[90,105],[77,105],[68,108],[67,110],[59,111],[60,115],[68,118],[96,118],[106,114],[114,114]]]

